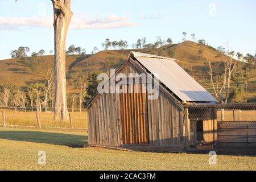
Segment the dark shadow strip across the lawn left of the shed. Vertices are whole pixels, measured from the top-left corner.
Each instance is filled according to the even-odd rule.
[[[74,148],[84,147],[88,143],[87,136],[42,131],[0,131],[0,139],[56,144]]]

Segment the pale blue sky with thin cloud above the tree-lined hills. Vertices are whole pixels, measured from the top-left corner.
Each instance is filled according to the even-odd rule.
[[[171,1],[171,0],[72,0],[73,17],[67,37],[71,44],[102,49],[106,38],[127,40],[131,45],[156,37],[182,42],[205,39],[212,47],[229,44],[235,52],[255,54],[256,1]],[[0,59],[9,59],[11,50],[26,46],[32,52],[53,49],[53,10],[50,0],[0,0]]]

